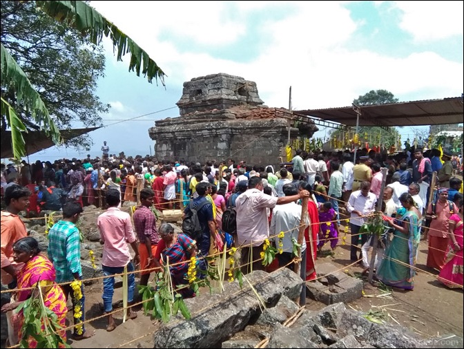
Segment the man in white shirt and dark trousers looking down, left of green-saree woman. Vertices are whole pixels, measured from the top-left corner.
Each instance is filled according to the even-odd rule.
[[[352,262],[358,261],[362,258],[362,254],[359,254],[358,258],[358,247],[359,243],[359,229],[365,223],[365,216],[368,216],[376,207],[377,198],[374,193],[369,191],[371,189],[371,182],[365,180],[361,182],[360,190],[353,191],[349,196],[347,202],[347,211],[351,214],[349,220],[349,226],[351,227],[351,248],[349,258]],[[367,241],[368,234],[361,235],[361,246]]]

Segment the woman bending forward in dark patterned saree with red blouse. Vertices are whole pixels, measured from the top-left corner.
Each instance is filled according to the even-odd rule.
[[[189,285],[196,279],[196,241],[186,234],[177,234],[169,223],[160,227],[160,242],[155,253],[155,261],[162,260],[166,265],[169,262],[169,271],[173,281],[173,289],[178,285]],[[191,261],[189,263],[188,261]],[[185,262],[185,263],[182,263]],[[183,298],[191,298],[195,293],[191,287],[182,287],[179,290]]]

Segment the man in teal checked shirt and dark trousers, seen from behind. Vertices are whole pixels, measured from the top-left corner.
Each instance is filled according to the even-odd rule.
[[[55,223],[48,232],[48,258],[53,263],[57,274],[57,283],[66,283],[66,285],[60,285],[63,289],[66,300],[68,300],[69,294],[72,297],[72,314],[75,312],[76,305],[79,305],[79,312],[81,317],[76,319],[74,316],[74,324],[85,321],[85,308],[84,303],[86,297],[84,296],[84,284],[81,283],[81,294],[82,298],[79,301],[75,301],[73,296],[72,287],[70,283],[75,280],[82,279],[82,268],[81,268],[81,249],[79,244],[79,229],[76,227],[79,215],[82,213],[82,207],[79,202],[72,200],[67,202],[63,206],[63,219]],[[82,333],[77,333],[77,328],[74,328],[73,339],[85,339],[90,338],[95,334],[86,332],[86,328],[82,325]]]

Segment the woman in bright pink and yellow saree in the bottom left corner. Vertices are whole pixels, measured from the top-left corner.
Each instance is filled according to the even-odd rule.
[[[55,268],[52,263],[42,254],[40,254],[39,243],[35,238],[26,236],[17,240],[13,245],[13,259],[16,263],[24,263],[24,266],[17,273],[18,290],[17,301],[8,303],[1,307],[2,312],[7,312],[16,309],[23,301],[31,296],[38,296],[37,288],[30,290],[30,287],[40,285],[43,294],[44,305],[57,314],[58,323],[61,328],[66,327],[66,297],[64,296],[61,287],[55,283]],[[21,290],[26,289],[26,290]],[[14,314],[11,318],[13,329],[18,333],[18,338],[21,339],[23,334],[22,326],[24,321],[23,310]],[[41,326],[42,330],[45,327]],[[57,332],[61,337],[61,345],[59,348],[65,348],[66,331]],[[37,348],[37,340],[34,337],[28,337],[28,348]]]

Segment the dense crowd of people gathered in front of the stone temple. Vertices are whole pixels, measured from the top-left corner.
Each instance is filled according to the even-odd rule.
[[[1,211],[2,284],[10,289],[37,283],[46,286],[46,305],[60,321],[63,314],[66,316],[66,300],[76,293],[69,283],[82,278],[76,223],[86,205],[107,207],[97,225],[103,245],[101,269],[106,278],[102,299],[108,331],[115,329],[114,276],[124,268],[133,272],[138,267],[139,284],[145,286],[151,273],[169,261],[173,285],[184,285],[179,292],[191,297],[195,296],[188,287],[191,258],[199,258],[197,267],[206,270],[208,261],[202,257],[222,251],[224,243],[231,247],[232,239],[233,246],[240,247],[242,272],[269,271],[269,266],[262,263],[262,252],[270,239],[280,249],[278,265],[293,268],[293,247],[300,225],[305,227],[301,245],[301,277],[305,281],[316,279],[317,252],[327,243],[336,249],[342,221],[349,220],[351,261],[367,270],[367,252],[376,248],[376,277],[386,285],[412,290],[417,247],[423,238],[429,243],[427,266],[439,271],[438,280],[449,287],[463,286],[462,180],[454,176],[452,154],[447,151],[437,158],[436,149],[423,153],[417,148],[396,155],[361,149],[354,162],[351,151],[316,154],[298,149],[291,162],[274,169],[271,165],[235,163],[233,159],[200,164],[155,161],[139,155],[126,158],[124,153],[116,157],[109,155],[109,149],[104,150],[101,159],[88,156],[84,160],[45,162],[45,167],[38,161],[34,166],[23,162],[14,170],[14,166],[2,168],[6,204]],[[383,168],[387,168],[386,178]],[[438,190],[430,187],[433,171],[437,172]],[[30,205],[32,196],[37,196],[36,207]],[[308,215],[301,222],[305,198]],[[132,223],[131,216],[120,207],[124,201],[137,205],[137,200]],[[382,205],[378,206],[379,200]],[[229,207],[235,207],[235,232],[222,227],[222,216]],[[383,211],[385,230],[374,246],[372,236],[360,234],[360,229],[377,207]],[[160,225],[153,208],[180,208],[184,216],[195,209],[201,232],[192,238],[177,233],[171,224]],[[61,210],[62,218],[48,232],[48,256],[41,254],[37,241],[27,236],[19,216],[26,209]],[[43,278],[37,278],[37,270],[43,270]],[[129,275],[131,306],[136,281],[134,274]],[[305,290],[302,287],[302,302]],[[17,336],[21,336],[20,329],[14,324],[21,321],[14,318],[21,312],[12,314],[12,310],[32,293],[18,292],[14,302],[1,308],[12,319],[9,323],[17,329]],[[76,324],[84,321],[83,285],[77,293],[79,299],[72,296]],[[136,316],[129,308],[128,317]],[[73,334],[75,339],[91,335],[85,326],[75,328]],[[14,339],[10,339],[10,345],[14,345]]]

